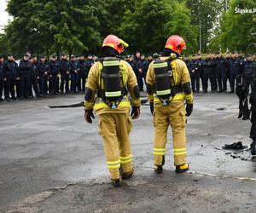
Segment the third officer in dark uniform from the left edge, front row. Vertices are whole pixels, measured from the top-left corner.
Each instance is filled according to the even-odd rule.
[[[30,75],[32,63],[29,60],[29,55],[24,55],[20,60],[20,83],[21,83],[21,97],[28,98],[30,96]]]

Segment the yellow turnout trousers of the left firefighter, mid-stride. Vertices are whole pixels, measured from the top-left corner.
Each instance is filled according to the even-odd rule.
[[[119,179],[119,168],[123,172],[132,170],[131,164],[131,118],[129,113],[103,113],[99,115],[99,134],[103,138],[111,179]]]

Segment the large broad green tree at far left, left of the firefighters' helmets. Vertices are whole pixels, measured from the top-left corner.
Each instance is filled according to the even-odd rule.
[[[19,54],[34,52],[81,53],[95,49],[102,37],[98,31],[101,0],[10,0],[14,20],[6,27],[9,49]]]

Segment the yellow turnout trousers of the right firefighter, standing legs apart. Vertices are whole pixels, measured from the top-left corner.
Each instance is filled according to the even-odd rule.
[[[186,111],[183,101],[154,107],[154,164],[162,165],[169,124],[172,127],[174,164],[186,164]]]

